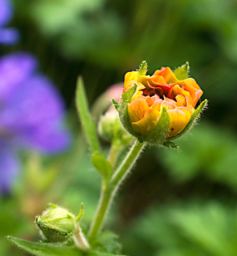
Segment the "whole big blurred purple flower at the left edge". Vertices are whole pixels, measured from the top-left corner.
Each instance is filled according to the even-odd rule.
[[[19,170],[17,148],[46,154],[65,150],[64,102],[51,81],[36,72],[37,60],[25,52],[0,59],[0,191]]]

